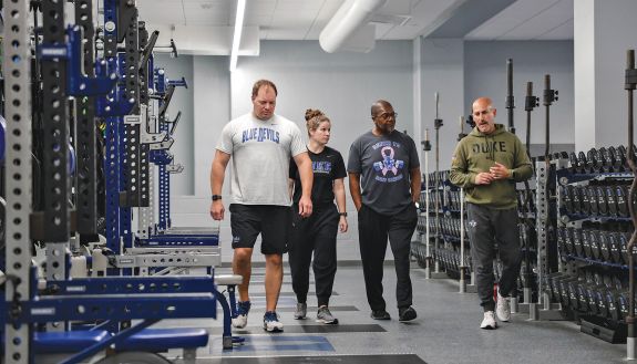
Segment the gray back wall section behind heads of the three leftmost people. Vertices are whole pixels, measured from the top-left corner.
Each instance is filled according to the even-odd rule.
[[[349,147],[371,129],[371,104],[384,98],[399,114],[397,128],[413,131],[411,41],[379,41],[369,53],[323,52],[317,41],[264,41],[258,58],[239,58],[232,75],[232,115],[251,111],[255,81],[277,85],[277,113],[305,127],[305,111],[332,121],[330,145],[347,160]]]

